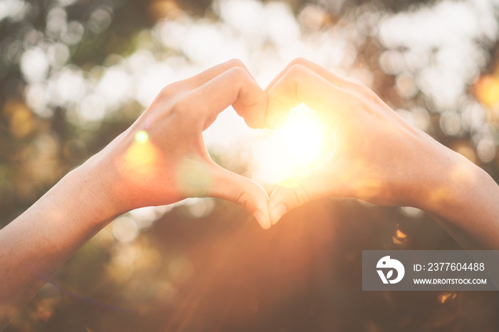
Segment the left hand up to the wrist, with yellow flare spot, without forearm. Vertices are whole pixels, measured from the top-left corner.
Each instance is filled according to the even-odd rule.
[[[263,228],[270,227],[267,193],[213,162],[202,139],[202,131],[230,105],[249,127],[263,127],[267,95],[237,60],[163,88],[128,130],[89,160],[98,176],[106,170],[104,187],[118,214],[209,196],[242,205]]]

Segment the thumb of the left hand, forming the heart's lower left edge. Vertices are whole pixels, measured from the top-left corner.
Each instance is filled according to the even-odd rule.
[[[213,185],[209,193],[210,196],[240,204],[254,215],[263,229],[268,229],[271,223],[267,192],[256,182],[225,170],[215,163],[211,168]]]

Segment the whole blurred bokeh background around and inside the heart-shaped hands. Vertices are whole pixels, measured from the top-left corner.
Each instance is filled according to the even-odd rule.
[[[0,227],[164,85],[230,58],[262,86],[316,61],[497,181],[498,13],[497,0],[0,0]],[[271,191],[304,157],[277,142],[307,141],[302,127],[249,130],[226,110],[205,140]],[[235,204],[187,199],[115,219],[6,331],[498,331],[497,292],[361,291],[363,249],[459,248],[410,207],[321,199],[264,231]]]

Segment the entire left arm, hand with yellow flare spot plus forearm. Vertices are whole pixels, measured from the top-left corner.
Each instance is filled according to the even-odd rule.
[[[213,162],[202,140],[230,105],[249,127],[264,125],[267,95],[238,60],[168,85],[128,130],[1,229],[0,330],[76,250],[131,209],[220,197],[270,227],[267,193]]]

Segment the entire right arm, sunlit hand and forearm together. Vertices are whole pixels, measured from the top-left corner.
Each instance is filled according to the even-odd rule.
[[[354,197],[384,206],[418,207],[464,248],[499,249],[495,181],[406,123],[369,88],[297,58],[265,91],[268,128],[281,125],[289,108],[305,103],[336,136],[331,159],[272,192],[272,224],[312,199]]]

